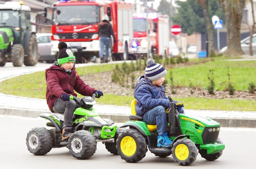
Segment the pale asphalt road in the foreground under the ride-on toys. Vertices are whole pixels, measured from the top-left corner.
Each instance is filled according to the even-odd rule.
[[[131,169],[131,168],[180,168],[172,158],[160,158],[148,151],[138,163],[126,163],[118,155],[110,154],[102,143],[98,143],[96,153],[86,160],[74,158],[66,147],[54,148],[46,155],[36,156],[26,147],[27,132],[34,127],[46,127],[42,118],[22,118],[0,115],[0,168],[2,169]],[[47,127],[46,127],[47,128]],[[256,165],[254,142],[255,128],[221,128],[220,138],[226,148],[216,161],[206,161],[198,154],[189,167],[196,169],[249,169]]]

